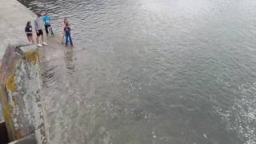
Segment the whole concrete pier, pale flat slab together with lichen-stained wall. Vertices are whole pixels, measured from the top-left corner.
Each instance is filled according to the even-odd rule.
[[[24,33],[26,22],[36,16],[16,0],[1,0],[0,18],[0,107],[8,138],[18,140],[13,143],[47,143],[38,47]]]

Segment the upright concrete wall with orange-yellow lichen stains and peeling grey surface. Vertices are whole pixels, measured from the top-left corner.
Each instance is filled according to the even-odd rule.
[[[34,46],[8,46],[0,69],[0,101],[10,141],[34,133],[39,143],[45,141],[39,70]]]

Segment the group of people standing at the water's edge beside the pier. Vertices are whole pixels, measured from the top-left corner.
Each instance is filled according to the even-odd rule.
[[[44,35],[43,35],[43,25],[46,30],[46,35],[48,36],[49,33],[54,34],[54,31],[51,27],[51,17],[48,13],[46,13],[44,16],[41,14],[37,14],[38,17],[34,20],[34,28],[37,34],[36,40],[37,40],[37,46],[46,46],[47,43],[44,41]],[[66,45],[70,42],[70,45],[73,46],[72,38],[71,38],[71,29],[70,24],[67,20],[67,18],[64,18],[64,21],[62,22],[63,25],[63,34],[62,34],[62,43],[64,42],[64,38],[66,37]],[[34,38],[33,38],[33,29],[32,24],[30,21],[26,22],[25,27],[25,33],[28,41],[32,44],[34,44]],[[39,41],[41,38],[41,42]]]

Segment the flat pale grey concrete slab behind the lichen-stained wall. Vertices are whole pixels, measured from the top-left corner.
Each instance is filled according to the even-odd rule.
[[[34,18],[34,13],[18,1],[0,1],[0,60],[9,44],[15,46],[27,43],[24,29],[26,22],[33,22]]]

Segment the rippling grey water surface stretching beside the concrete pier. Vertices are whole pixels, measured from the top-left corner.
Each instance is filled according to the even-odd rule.
[[[41,51],[51,143],[256,143],[255,1],[20,2],[74,29]]]

